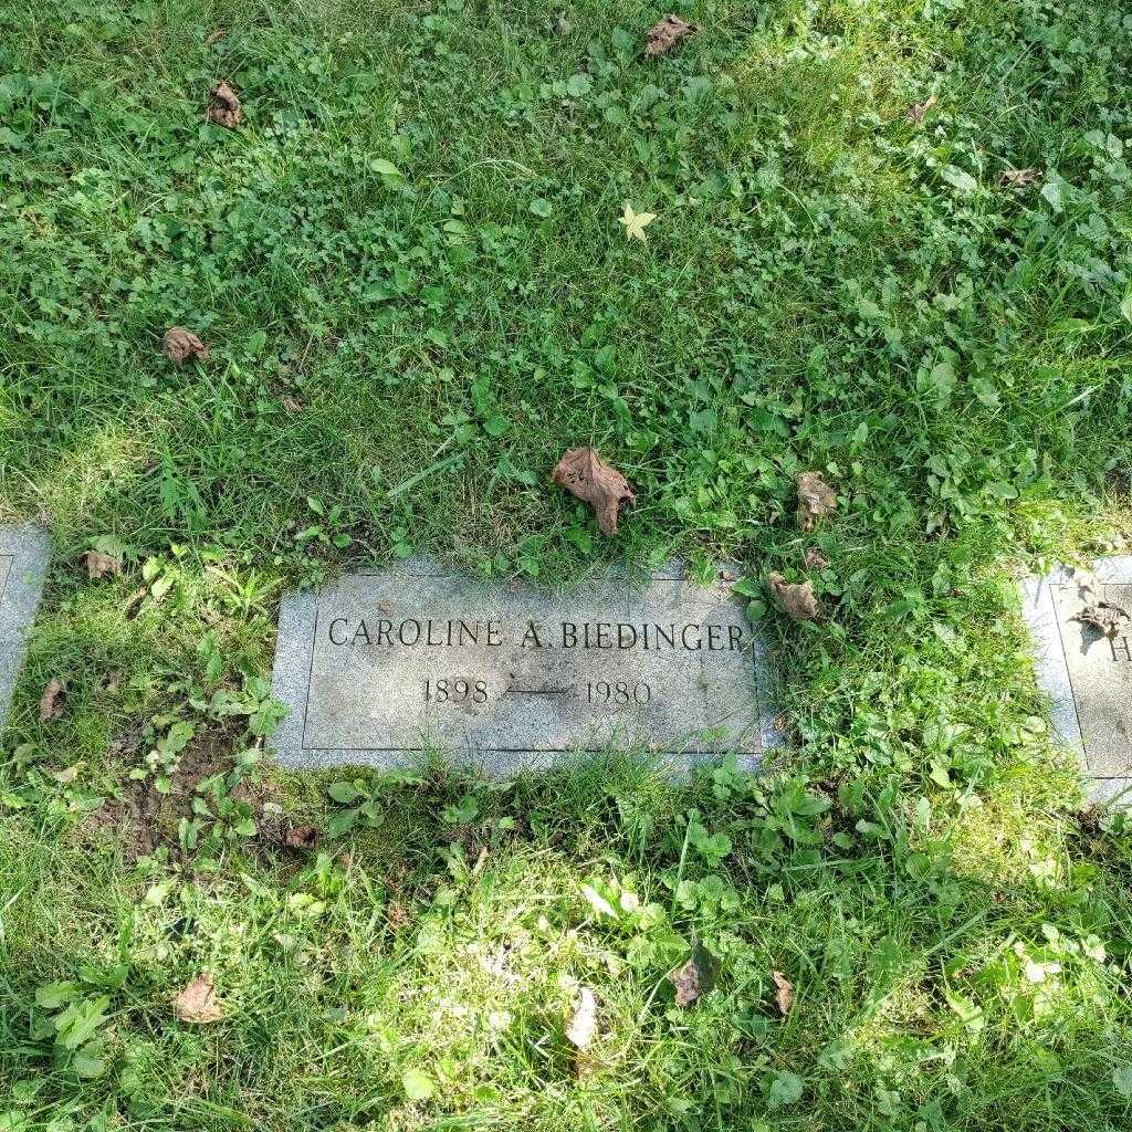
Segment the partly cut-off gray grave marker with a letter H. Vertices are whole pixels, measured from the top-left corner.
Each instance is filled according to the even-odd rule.
[[[1101,559],[1094,575],[1094,590],[1072,569],[1028,580],[1023,612],[1058,736],[1081,755],[1094,798],[1124,795],[1126,801],[1132,798],[1132,625],[1124,621],[1106,636],[1078,617],[1098,601],[1132,612],[1132,557]]]

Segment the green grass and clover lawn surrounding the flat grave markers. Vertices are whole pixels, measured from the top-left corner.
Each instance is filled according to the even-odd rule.
[[[1132,535],[1132,23],[704,2],[646,63],[662,14],[0,3],[0,518],[55,544],[0,752],[6,1132],[1132,1125],[1132,839],[1079,813],[1013,598]],[[580,443],[638,494],[616,541],[549,482]],[[806,576],[809,469],[774,775],[340,804],[259,757],[286,586],[680,555],[758,594]]]

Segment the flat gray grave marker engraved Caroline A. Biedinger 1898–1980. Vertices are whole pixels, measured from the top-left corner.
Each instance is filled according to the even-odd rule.
[[[288,766],[412,761],[429,749],[506,772],[645,744],[745,765],[774,740],[762,653],[729,586],[667,571],[569,597],[483,585],[426,564],[290,594],[275,735]]]

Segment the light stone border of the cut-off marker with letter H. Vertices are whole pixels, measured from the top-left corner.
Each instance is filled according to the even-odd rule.
[[[1097,581],[1109,585],[1132,584],[1132,555],[1100,558],[1091,564]],[[1053,585],[1070,585],[1072,567],[1058,566],[1041,577],[1023,578],[1022,617],[1034,644],[1035,676],[1049,705],[1049,721],[1057,738],[1077,755],[1081,774],[1089,782],[1089,798],[1096,803],[1132,805],[1132,778],[1098,778],[1090,774],[1084,757],[1084,739],[1077,718],[1077,704],[1065,662],[1065,650],[1057,628],[1050,592]]]

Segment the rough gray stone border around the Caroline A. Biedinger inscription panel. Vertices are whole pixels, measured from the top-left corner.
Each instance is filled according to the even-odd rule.
[[[726,567],[724,567],[726,568]],[[361,571],[359,573],[402,573],[415,577],[451,577],[451,569],[445,569],[424,559],[406,559],[387,571]],[[736,572],[737,576],[741,576]],[[687,581],[687,574],[679,563],[667,563],[652,575],[655,582]],[[612,569],[606,577],[594,581],[625,581],[624,567]],[[314,660],[315,623],[318,616],[318,591],[303,590],[286,593],[280,602],[278,633],[275,640],[275,662],[272,668],[272,695],[283,702],[298,704],[302,701],[309,681],[310,666]],[[290,642],[291,648],[285,645]],[[755,702],[757,709],[757,727],[760,739],[758,754],[743,753],[739,755],[739,766],[745,771],[754,771],[766,755],[783,741],[782,732],[775,722],[770,705],[770,662],[766,644],[757,635],[752,649],[754,667]],[[269,743],[275,755],[275,762],[284,770],[329,770],[342,766],[372,766],[389,769],[404,765],[414,758],[421,758],[421,753],[405,752],[367,752],[359,754],[350,749],[319,751],[317,754],[302,749],[302,717],[298,711],[289,711],[283,722]],[[478,767],[488,774],[513,772],[518,769],[544,770],[555,762],[572,756],[558,752],[532,751],[526,755],[514,752],[479,751],[463,752],[461,763],[469,767]],[[580,757],[580,756],[574,756]],[[697,755],[692,758],[680,758],[669,753],[666,761],[674,765],[694,765],[710,761],[714,755]]]

